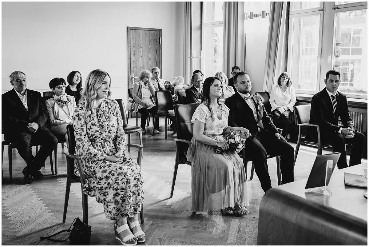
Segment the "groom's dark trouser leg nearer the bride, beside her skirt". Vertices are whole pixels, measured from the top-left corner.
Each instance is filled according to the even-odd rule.
[[[246,157],[252,159],[254,162],[255,172],[260,180],[261,188],[266,192],[272,188],[272,185],[270,185],[266,151],[259,140],[259,133],[256,134],[256,137],[250,143],[246,144]]]

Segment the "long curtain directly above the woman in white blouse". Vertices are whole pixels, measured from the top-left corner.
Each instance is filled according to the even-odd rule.
[[[263,83],[263,90],[267,92],[270,92],[280,73],[287,71],[289,8],[289,2],[272,2],[270,5]]]

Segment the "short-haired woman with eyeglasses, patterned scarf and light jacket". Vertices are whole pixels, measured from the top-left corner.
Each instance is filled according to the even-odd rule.
[[[51,99],[46,100],[46,109],[49,114],[51,131],[54,135],[66,135],[67,125],[72,123],[73,113],[76,108],[76,100],[65,93],[67,83],[63,78],[54,78],[49,87],[54,93]],[[68,143],[68,142],[67,142]]]

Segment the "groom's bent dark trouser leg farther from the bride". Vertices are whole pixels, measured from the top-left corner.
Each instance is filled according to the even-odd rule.
[[[275,135],[261,131],[262,144],[269,155],[280,155],[282,184],[294,181],[293,156],[294,148],[286,141],[279,140]]]

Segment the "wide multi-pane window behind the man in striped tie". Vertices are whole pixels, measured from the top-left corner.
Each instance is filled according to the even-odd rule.
[[[287,70],[296,92],[315,94],[336,69],[341,92],[367,99],[367,27],[366,2],[292,2]]]

